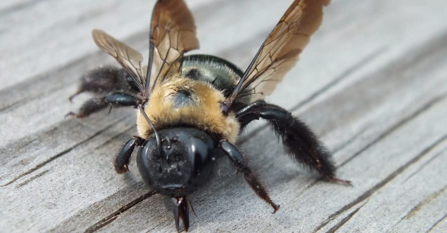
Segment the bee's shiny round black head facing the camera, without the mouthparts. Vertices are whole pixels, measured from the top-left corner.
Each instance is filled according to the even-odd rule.
[[[160,194],[186,196],[209,177],[214,142],[194,128],[165,129],[159,134],[162,154],[155,137],[151,137],[138,152],[138,170],[145,182]]]

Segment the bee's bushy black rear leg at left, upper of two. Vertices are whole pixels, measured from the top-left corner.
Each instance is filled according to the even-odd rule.
[[[111,66],[99,67],[88,71],[80,78],[81,83],[78,90],[69,97],[82,93],[90,92],[94,94],[105,94],[110,92],[138,93],[138,87],[124,69],[118,69]]]

